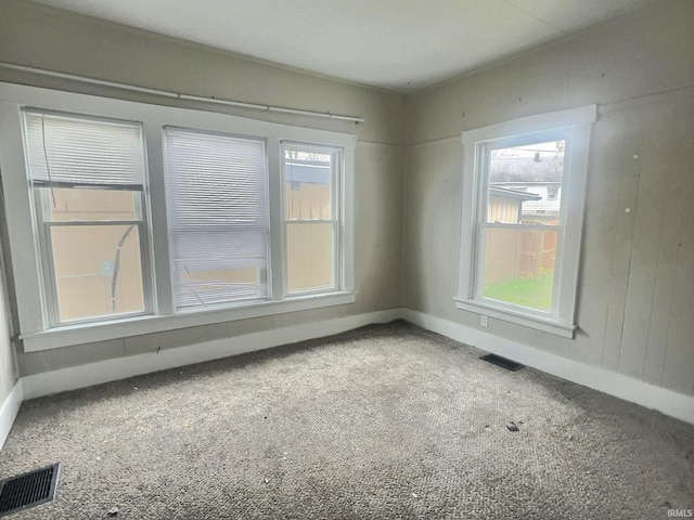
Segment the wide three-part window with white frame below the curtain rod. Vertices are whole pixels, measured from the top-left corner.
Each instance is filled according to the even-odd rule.
[[[24,350],[352,303],[356,142],[1,83]]]

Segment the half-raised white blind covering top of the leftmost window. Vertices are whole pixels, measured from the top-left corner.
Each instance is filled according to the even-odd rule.
[[[141,190],[139,123],[25,114],[28,170],[35,184]]]

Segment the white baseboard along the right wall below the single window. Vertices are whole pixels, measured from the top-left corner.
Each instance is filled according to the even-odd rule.
[[[694,425],[694,396],[648,385],[599,366],[586,365],[422,312],[400,309],[400,316],[414,325],[462,343],[473,344],[478,349],[510,358],[524,365],[646,408],[657,410],[665,415]]]

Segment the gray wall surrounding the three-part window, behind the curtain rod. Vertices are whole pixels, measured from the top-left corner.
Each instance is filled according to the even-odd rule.
[[[0,0],[0,61],[188,94],[362,116],[363,123],[222,107],[240,116],[358,136],[354,304],[18,354],[22,376],[162,348],[390,309],[400,304],[404,96],[272,67],[203,46],[51,8]],[[0,80],[160,103],[0,68]],[[170,100],[167,100],[170,103]],[[180,102],[178,106],[201,107]]]

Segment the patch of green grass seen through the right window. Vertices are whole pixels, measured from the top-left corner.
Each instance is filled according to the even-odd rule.
[[[549,312],[552,309],[553,277],[553,271],[537,276],[523,276],[501,284],[488,285],[483,288],[481,295],[491,300]]]

